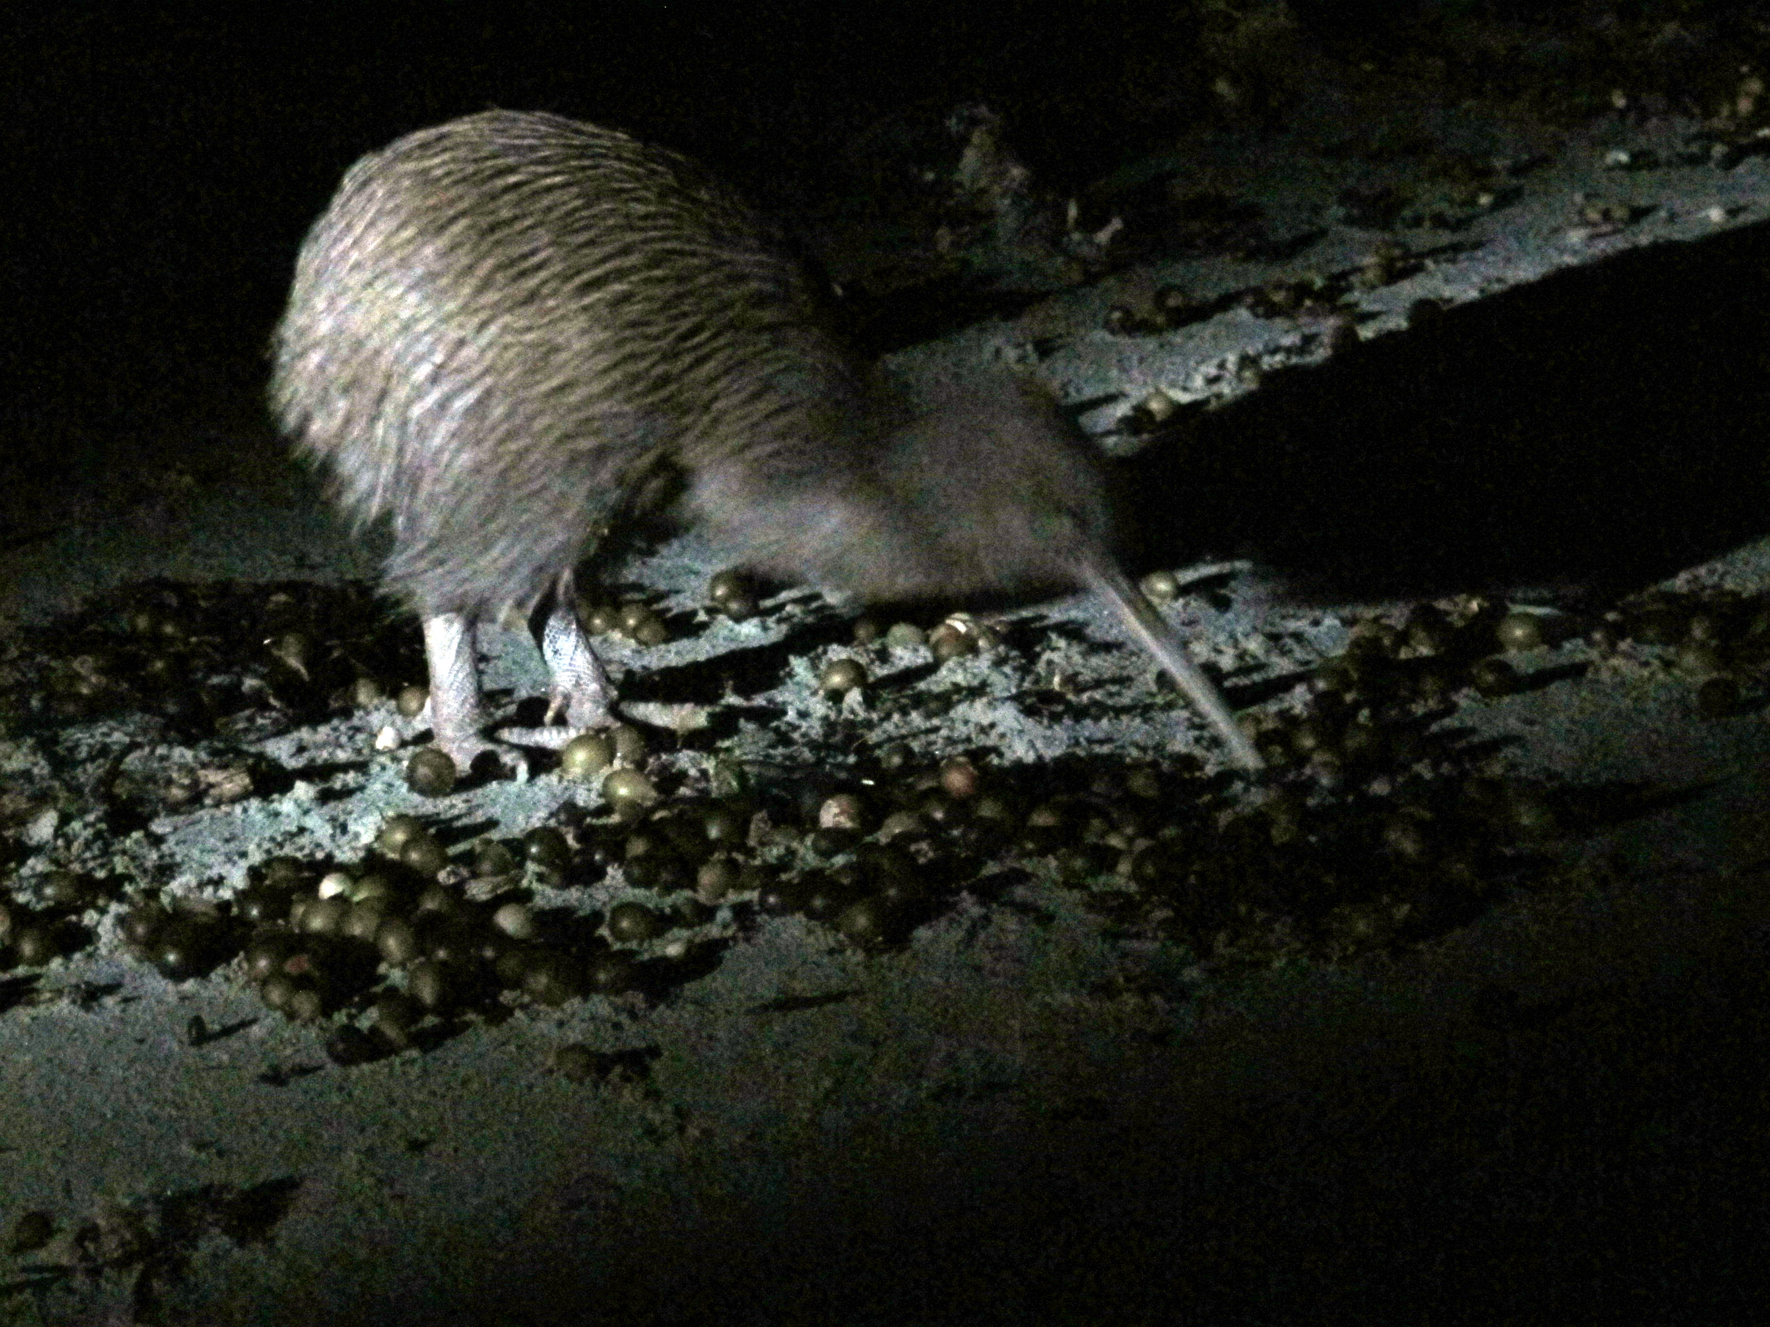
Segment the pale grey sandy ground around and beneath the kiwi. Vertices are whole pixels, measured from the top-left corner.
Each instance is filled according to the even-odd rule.
[[[1717,281],[1708,267],[1662,276],[1696,271],[1715,244],[1736,253],[1706,262],[1761,281],[1749,226],[1770,209],[1770,173],[1754,156],[1690,159],[1694,127],[1611,120],[1543,142],[1437,126],[1448,149],[1533,165],[1455,228],[1405,232],[1423,260],[1349,292],[1366,341],[1351,359],[1451,338],[1474,366],[1598,299],[1556,283],[1597,272],[1604,299],[1627,299]],[[1333,329],[1237,303],[1358,271],[1382,235],[1340,200],[1418,161],[1329,161],[1287,140],[1253,168],[1234,143],[1220,150],[1214,180],[1262,207],[1267,257],[1156,257],[892,359],[910,380],[1032,359],[1083,426],[1138,453],[1127,465],[1158,494],[1138,571],[1197,556],[1195,515],[1212,538],[1234,529],[1159,488],[1161,449],[1172,460],[1181,444],[1138,451],[1117,426],[1150,391],[1188,407],[1186,446],[1207,471],[1212,446],[1294,428],[1287,446],[1306,455],[1312,423],[1375,432],[1359,410],[1386,428],[1391,409],[1420,409],[1395,405],[1405,393],[1381,377],[1418,363],[1301,370],[1329,357]],[[1597,198],[1620,211],[1591,211]],[[1166,283],[1221,303],[1174,331],[1106,331],[1112,306]],[[1421,299],[1451,311],[1428,320]],[[1448,322],[1462,304],[1473,318]],[[1028,350],[1039,338],[1055,349]],[[143,419],[136,437],[94,444],[58,492],[14,495],[11,527],[39,536],[5,552],[16,640],[127,580],[372,573],[372,548],[244,423],[250,386],[218,382],[205,426]],[[1267,400],[1292,414],[1260,414]],[[1575,460],[1598,465],[1602,441],[1589,446]],[[112,481],[124,448],[127,492]],[[1728,545],[1699,548],[1676,584],[1770,589],[1763,545],[1713,534]],[[713,617],[701,586],[717,566],[689,536],[616,575],[678,625],[671,644],[609,649],[666,786],[708,779],[715,754],[802,777],[843,741],[904,741],[929,761],[988,752],[1000,768],[1064,752],[1216,759],[1080,598],[1025,607],[998,655],[935,669],[920,648],[850,646],[846,619],[805,594],[749,623]],[[1471,580],[1446,589],[1490,591],[1512,570],[1473,556],[1437,570],[1458,566]],[[1313,570],[1237,564],[1170,609],[1237,704],[1297,708],[1306,671],[1359,616],[1409,602],[1388,587],[1301,594]],[[1609,591],[1678,570],[1643,566]],[[1568,582],[1515,589],[1577,598]],[[543,687],[519,644],[489,664],[499,695]],[[881,685],[820,695],[816,671],[841,653]],[[706,678],[733,658],[765,660],[766,676],[720,697]],[[1506,775],[1664,796],[1558,842],[1572,865],[1554,888],[1393,957],[1202,977],[1182,945],[1113,927],[1048,872],[986,872],[883,952],[727,908],[690,947],[704,955],[692,980],[519,1000],[345,1067],[327,1026],[269,1012],[239,963],[168,980],[129,954],[120,901],[94,908],[94,943],[0,975],[0,1217],[53,1226],[0,1272],[0,1322],[1568,1322],[1597,1304],[1632,1306],[1634,1322],[1724,1320],[1765,1235],[1765,718],[1699,717],[1653,649],[1595,660],[1582,639],[1519,655],[1538,685],[1458,692],[1444,722],[1503,743]],[[1051,671],[1087,704],[1028,711],[1027,688]],[[906,695],[926,704],[889,702]],[[710,722],[717,743],[674,743],[678,718]],[[225,901],[274,855],[361,860],[391,812],[451,840],[522,833],[566,803],[600,814],[556,773],[419,798],[407,752],[373,750],[389,722],[382,706],[235,743],[289,779],[228,805],[126,832],[80,805],[39,816],[14,832],[12,890],[34,899],[44,872],[74,867]],[[19,724],[0,773],[65,782],[124,750],[170,768],[175,745],[145,720]],[[628,894],[616,872],[556,902]],[[554,1069],[563,1044],[625,1053],[604,1065],[637,1072],[572,1081]]]

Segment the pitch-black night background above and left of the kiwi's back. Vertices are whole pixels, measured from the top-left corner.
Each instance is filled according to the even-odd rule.
[[[556,110],[701,156],[765,203],[894,108],[1012,106],[1037,166],[1096,170],[1124,126],[1097,71],[1170,41],[1163,5],[67,7],[18,14],[5,115],[9,354],[87,410],[143,361],[264,345],[342,170],[487,106]],[[1108,136],[1112,142],[1101,142]],[[156,375],[147,373],[149,380]],[[58,382],[57,382],[58,379]],[[42,391],[41,379],[35,391]],[[161,382],[161,386],[165,386]],[[32,410],[41,396],[14,396]]]

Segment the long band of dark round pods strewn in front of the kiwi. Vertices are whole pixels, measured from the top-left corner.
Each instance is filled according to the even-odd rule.
[[[159,639],[158,621],[126,630]],[[974,642],[984,633],[963,617],[947,626]],[[883,639],[908,644],[908,632],[919,628]],[[274,667],[312,679],[338,665],[336,639],[294,635],[260,637],[274,640]],[[271,1009],[331,1021],[340,1063],[442,1035],[448,1019],[512,996],[554,1005],[690,980],[717,961],[706,927],[729,936],[750,913],[798,913],[860,948],[901,943],[961,890],[1011,878],[1005,867],[1044,871],[1112,925],[1177,940],[1204,964],[1342,959],[1460,924],[1542,878],[1542,846],[1565,828],[1630,814],[1504,780],[1434,727],[1464,688],[1522,685],[1529,660],[1506,655],[1575,635],[1600,655],[1628,642],[1628,658],[1657,651],[1692,679],[1705,713],[1736,713],[1763,690],[1770,596],[1651,591],[1598,621],[1460,600],[1359,623],[1345,653],[1319,665],[1301,710],[1244,720],[1271,768],[1255,800],[1184,763],[995,768],[966,752],[922,764],[904,748],[867,752],[835,780],[662,798],[637,731],[586,734],[561,771],[600,780],[602,819],[568,805],[520,839],[451,851],[421,821],[393,816],[359,863],[273,858],[232,901],[136,899],[120,932],[172,980],[241,957]],[[825,687],[866,685],[864,667],[837,664],[858,676]],[[620,890],[600,911],[536,902],[542,885],[586,886],[616,867]],[[104,902],[69,871],[39,872],[14,894],[0,899],[5,966],[76,952],[90,940],[76,915]]]

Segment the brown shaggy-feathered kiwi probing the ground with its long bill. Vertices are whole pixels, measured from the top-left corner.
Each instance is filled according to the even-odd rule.
[[[1089,587],[1260,759],[1127,582],[1096,449],[1009,375],[910,412],[827,317],[784,232],[685,156],[558,115],[485,111],[358,161],[310,230],[273,343],[273,410],[418,612],[435,743],[487,734],[476,632],[529,612],[563,745],[614,722],[573,573],[643,490],[754,571],[860,600]]]

